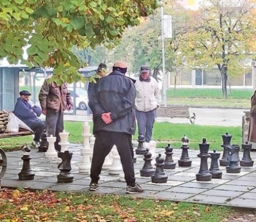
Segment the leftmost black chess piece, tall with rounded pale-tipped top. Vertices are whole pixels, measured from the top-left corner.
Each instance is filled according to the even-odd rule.
[[[28,145],[24,145],[22,148],[23,157],[21,158],[23,160],[23,166],[21,171],[18,173],[19,180],[33,180],[35,178],[35,173],[31,170],[30,167],[30,153],[31,148],[28,147]]]

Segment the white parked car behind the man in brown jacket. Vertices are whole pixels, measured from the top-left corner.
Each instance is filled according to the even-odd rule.
[[[74,100],[74,91],[73,88],[68,88],[68,92],[70,92],[72,100]],[[76,88],[76,108],[81,110],[87,110],[88,104],[88,95],[87,90],[83,88]]]

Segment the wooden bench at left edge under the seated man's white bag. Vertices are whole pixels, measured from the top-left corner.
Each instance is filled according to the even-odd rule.
[[[9,137],[22,137],[25,135],[33,134],[31,131],[22,129],[22,128],[19,128],[19,132],[17,133],[6,132],[7,123],[8,123],[8,113],[4,111],[0,111],[0,139],[9,138]]]

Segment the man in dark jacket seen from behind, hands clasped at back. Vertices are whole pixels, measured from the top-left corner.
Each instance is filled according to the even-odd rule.
[[[93,113],[93,148],[90,190],[99,189],[98,181],[105,157],[116,145],[127,183],[126,193],[144,191],[135,181],[131,135],[135,133],[135,87],[125,76],[127,66],[117,62],[113,72],[97,81],[89,99]]]

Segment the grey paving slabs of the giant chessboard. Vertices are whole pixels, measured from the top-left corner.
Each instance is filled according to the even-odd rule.
[[[78,145],[73,145],[69,149],[73,153],[71,165],[74,180],[68,184],[57,183],[56,176],[60,173],[57,169],[58,161],[45,158],[44,153],[36,152],[35,149],[31,153],[31,168],[36,173],[35,180],[18,180],[18,173],[22,168],[22,152],[7,152],[8,166],[6,175],[2,179],[2,187],[89,192],[89,175],[81,174],[78,171],[78,166],[82,160],[80,148]],[[157,152],[164,153],[163,149],[157,149]],[[193,160],[191,167],[179,167],[177,164],[176,169],[166,170],[168,175],[168,183],[166,184],[153,184],[151,178],[142,178],[139,170],[144,162],[142,156],[137,157],[135,164],[137,182],[146,191],[132,195],[143,198],[256,208],[255,166],[242,168],[239,174],[228,174],[225,172],[225,168],[221,167],[222,179],[199,182],[195,180],[195,174],[199,171],[200,163],[200,159],[196,156],[198,153],[198,150],[189,150],[190,158]],[[180,155],[181,150],[175,149],[173,155],[175,162],[180,158]],[[256,153],[252,153],[252,157],[255,160]],[[107,171],[102,171],[100,186],[101,188],[96,193],[125,194],[125,183],[119,181],[118,176],[109,175]]]

